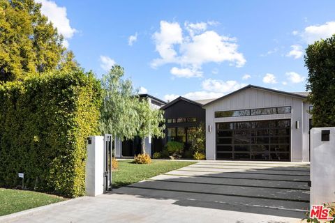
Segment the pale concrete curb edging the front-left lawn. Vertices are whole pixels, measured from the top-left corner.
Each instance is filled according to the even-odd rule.
[[[86,197],[86,196],[84,196],[84,197]],[[28,210],[22,210],[20,212],[13,213],[13,214],[3,215],[3,216],[0,216],[0,222],[12,222],[14,220],[18,220],[21,217],[25,217],[27,215],[34,215],[34,213],[36,213],[38,211],[47,210],[47,209],[52,208],[54,206],[60,206],[60,205],[64,205],[64,204],[72,202],[72,201],[77,201],[77,200],[84,199],[84,197],[77,197],[75,199],[68,199],[66,201],[59,201],[57,203],[51,203],[51,204],[47,204],[45,206],[31,208],[31,209],[28,209]]]

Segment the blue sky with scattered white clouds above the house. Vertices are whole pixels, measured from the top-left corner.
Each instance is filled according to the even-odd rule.
[[[304,91],[304,49],[335,33],[335,1],[38,1],[85,70],[164,100]]]

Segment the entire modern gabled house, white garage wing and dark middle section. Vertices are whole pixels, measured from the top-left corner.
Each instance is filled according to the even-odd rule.
[[[165,103],[142,95],[165,118],[165,137],[145,139],[146,152],[162,151],[168,141],[183,142],[187,150],[191,133],[204,123],[207,160],[309,161],[313,106],[307,96],[253,85],[209,100],[179,97]],[[120,155],[140,153],[140,142],[122,142]]]

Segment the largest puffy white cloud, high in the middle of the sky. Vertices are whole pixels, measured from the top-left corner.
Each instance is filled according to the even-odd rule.
[[[188,34],[183,36],[179,23],[161,21],[160,31],[153,35],[156,51],[161,57],[151,61],[151,66],[156,68],[166,63],[174,63],[181,66],[179,70],[197,71],[194,73],[198,75],[193,77],[199,77],[204,63],[228,61],[231,66],[244,66],[246,59],[237,51],[236,38],[208,31],[208,25],[205,22],[185,22],[184,29]],[[175,66],[174,70],[176,71]]]

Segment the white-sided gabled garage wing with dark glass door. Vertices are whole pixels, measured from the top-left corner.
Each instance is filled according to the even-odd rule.
[[[308,161],[306,98],[248,85],[207,103],[207,160]]]

